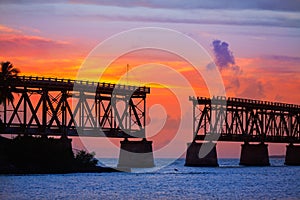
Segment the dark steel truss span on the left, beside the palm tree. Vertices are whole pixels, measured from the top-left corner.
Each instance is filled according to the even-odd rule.
[[[0,134],[145,138],[149,87],[19,76],[0,90],[15,98],[0,105]]]

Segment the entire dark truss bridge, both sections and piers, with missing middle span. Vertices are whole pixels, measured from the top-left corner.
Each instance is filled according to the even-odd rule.
[[[126,153],[131,151],[150,153],[148,165],[154,165],[152,142],[145,135],[149,87],[18,76],[0,81],[0,89],[17,94],[15,101],[0,105],[0,134],[125,138],[119,164],[132,164],[135,155]],[[300,163],[299,146],[294,146],[300,143],[299,105],[225,97],[189,100],[194,139],[186,165],[217,166],[216,141],[244,142],[240,163],[245,165],[269,165],[265,142],[289,143],[286,163]],[[209,144],[212,150],[199,157],[200,148]]]

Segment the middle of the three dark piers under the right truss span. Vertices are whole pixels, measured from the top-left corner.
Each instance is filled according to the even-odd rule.
[[[260,144],[242,144],[240,165],[247,166],[269,166],[268,145]]]

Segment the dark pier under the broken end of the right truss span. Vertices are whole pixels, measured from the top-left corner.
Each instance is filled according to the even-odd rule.
[[[216,144],[214,143],[188,143],[188,148],[185,158],[185,166],[190,167],[218,167],[218,157]],[[201,155],[200,148],[211,149],[208,154]],[[201,151],[202,152],[202,151]],[[205,151],[203,151],[205,153]]]

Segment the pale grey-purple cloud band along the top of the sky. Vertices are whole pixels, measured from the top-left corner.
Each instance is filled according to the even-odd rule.
[[[1,0],[0,0],[1,1]],[[147,23],[176,23],[176,24],[216,24],[234,26],[270,26],[270,27],[300,27],[300,19],[297,13],[281,12],[274,9],[272,11],[264,9],[248,8],[248,1],[234,4],[237,8],[233,9],[227,5],[227,1],[217,3],[215,1],[92,1],[87,0],[82,3],[77,0],[54,0],[51,4],[47,1],[38,0],[2,0],[0,11],[3,16],[15,14],[18,16],[51,16],[61,20],[62,16],[78,20],[106,21],[126,21],[126,22],[147,22]],[[252,2],[252,1],[251,1]],[[0,5],[1,5],[0,3]],[[284,2],[288,4],[288,2]],[[223,5],[226,4],[226,5]],[[9,8],[13,5],[12,8]],[[28,6],[29,5],[29,6]],[[91,6],[85,6],[91,5]],[[195,5],[195,6],[193,6]],[[273,4],[272,4],[273,5]],[[23,8],[23,7],[26,8]],[[258,6],[259,7],[259,6]],[[2,8],[2,9],[1,9]],[[279,8],[279,7],[278,7]],[[11,9],[17,9],[12,11]],[[191,11],[190,11],[191,10]],[[300,9],[299,9],[300,10]],[[261,12],[266,11],[266,12]],[[274,12],[275,11],[275,12]],[[288,11],[288,9],[287,9]],[[61,15],[58,15],[58,14]],[[296,35],[298,37],[298,35]]]

